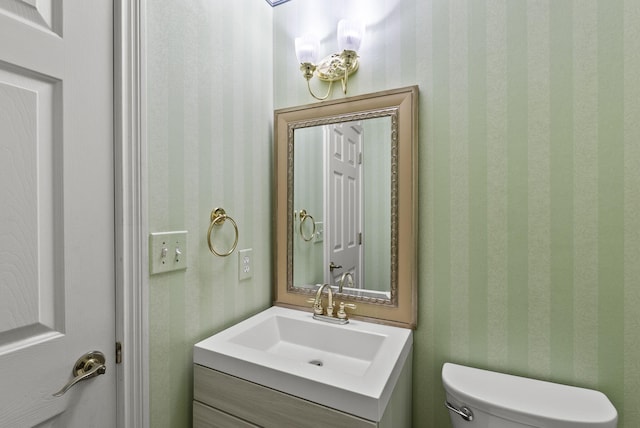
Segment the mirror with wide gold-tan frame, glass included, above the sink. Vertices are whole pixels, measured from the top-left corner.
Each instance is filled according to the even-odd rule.
[[[275,111],[275,304],[417,323],[417,86]],[[341,289],[341,292],[338,290]]]

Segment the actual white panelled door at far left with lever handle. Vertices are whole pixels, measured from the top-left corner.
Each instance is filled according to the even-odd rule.
[[[0,2],[2,427],[116,426],[112,9]]]

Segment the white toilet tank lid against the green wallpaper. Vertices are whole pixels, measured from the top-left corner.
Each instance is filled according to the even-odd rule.
[[[445,363],[444,388],[461,403],[486,413],[512,417],[523,415],[555,423],[589,423],[591,427],[615,427],[618,415],[603,393]],[[556,425],[559,426],[559,425]],[[564,425],[563,425],[564,426]]]

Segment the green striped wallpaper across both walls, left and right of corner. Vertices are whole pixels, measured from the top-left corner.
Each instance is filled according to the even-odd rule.
[[[356,15],[350,95],[421,89],[414,426],[449,426],[445,361],[596,388],[637,425],[640,0],[147,9],[150,228],[189,230],[190,257],[150,278],[151,426],[190,425],[193,343],[270,303],[272,112],[313,102],[293,38],[328,54]],[[215,206],[254,249],[248,282],[206,248]]]

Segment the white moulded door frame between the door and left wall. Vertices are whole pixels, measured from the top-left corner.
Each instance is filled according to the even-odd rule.
[[[146,0],[114,0],[116,421],[149,427]]]

